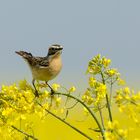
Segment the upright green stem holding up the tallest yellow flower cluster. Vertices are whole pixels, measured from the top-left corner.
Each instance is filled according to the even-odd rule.
[[[105,79],[104,79],[104,75],[103,75],[102,72],[101,72],[101,77],[102,77],[102,82],[105,85]],[[109,119],[112,122],[113,121],[113,119],[112,119],[112,113],[111,113],[110,102],[109,102],[108,94],[107,93],[106,93],[106,102],[107,102],[107,109],[108,109],[108,113],[109,113]]]

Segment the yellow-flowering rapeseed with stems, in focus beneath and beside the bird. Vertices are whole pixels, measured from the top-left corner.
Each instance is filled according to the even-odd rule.
[[[66,89],[59,84],[53,84],[52,88],[55,92],[52,95],[47,85],[37,82],[39,97],[34,97],[34,89],[26,80],[10,86],[2,85],[0,89],[1,139],[37,140],[36,134],[31,131],[32,125],[28,122],[28,118],[35,115],[43,120],[50,114],[89,140],[95,138],[128,140],[131,127],[122,127],[121,121],[116,120],[112,110],[114,104],[117,105],[120,113],[126,114],[137,126],[140,126],[140,92],[134,92],[128,86],[124,86],[125,81],[121,79],[118,70],[111,68],[111,60],[101,57],[100,54],[89,61],[87,74],[88,87],[81,96],[72,94],[77,91],[75,86]],[[114,84],[119,86],[115,92],[112,90]],[[91,116],[96,123],[96,127],[90,129],[93,130],[93,134],[97,133],[93,138],[67,121],[70,110],[77,104],[83,106],[85,116]],[[17,127],[17,123],[22,121],[26,122],[25,127]]]

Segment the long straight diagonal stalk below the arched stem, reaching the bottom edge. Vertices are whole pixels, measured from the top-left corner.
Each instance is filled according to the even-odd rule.
[[[38,103],[38,102],[37,102]],[[38,103],[39,106],[41,106],[43,108],[43,106]],[[83,133],[81,130],[77,129],[76,127],[72,126],[70,123],[66,122],[64,119],[58,117],[57,115],[55,115],[54,113],[50,112],[48,109],[44,109],[46,112],[48,112],[49,114],[51,114],[53,117],[57,118],[58,120],[60,120],[61,122],[65,123],[66,125],[68,125],[69,127],[71,127],[72,129],[74,129],[75,131],[77,131],[78,133],[80,133],[81,135],[83,135],[84,137],[86,137],[89,140],[93,140],[92,138],[90,138],[88,135],[86,135],[85,133]]]

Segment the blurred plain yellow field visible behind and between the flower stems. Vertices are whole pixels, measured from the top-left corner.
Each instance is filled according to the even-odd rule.
[[[70,115],[66,120],[84,133],[88,134],[91,138],[95,140],[99,139],[97,132],[89,130],[89,128],[97,128],[95,121],[90,116],[84,116],[85,114],[83,113],[82,107],[81,109],[77,109],[78,108],[76,107],[74,110],[70,111]],[[107,113],[104,112],[103,115],[107,121]],[[128,116],[123,113],[119,113],[116,107],[113,108],[113,117],[114,120],[118,120],[120,128],[130,128],[128,140],[140,138],[140,127],[129,119]],[[38,117],[31,118],[30,121],[35,123],[33,127],[34,134],[35,137],[40,140],[87,140],[87,138],[51,115],[47,115],[47,117],[42,121]],[[134,130],[133,128],[136,129]]]

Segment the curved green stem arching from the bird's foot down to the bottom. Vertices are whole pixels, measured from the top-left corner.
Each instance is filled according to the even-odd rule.
[[[88,110],[88,112],[91,114],[91,116],[94,118],[96,124],[98,125],[98,127],[99,127],[99,129],[100,129],[100,131],[101,131],[101,135],[102,135],[102,137],[103,137],[103,140],[105,140],[105,137],[104,137],[104,130],[103,130],[103,128],[102,128],[100,122],[98,121],[98,119],[97,119],[97,117],[95,116],[95,114],[90,110],[90,108],[89,108],[85,103],[83,103],[80,99],[78,99],[78,98],[76,98],[76,97],[74,97],[74,96],[72,96],[72,95],[70,95],[70,94],[56,93],[56,92],[55,92],[54,94],[62,95],[62,96],[66,96],[66,97],[72,98],[72,99],[76,100],[77,102],[79,102],[81,105],[83,105],[83,106]]]

